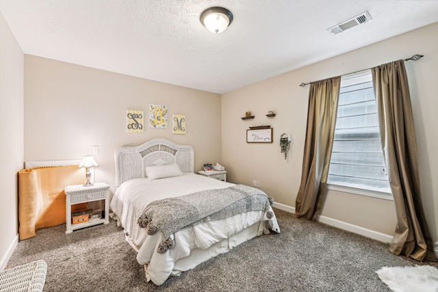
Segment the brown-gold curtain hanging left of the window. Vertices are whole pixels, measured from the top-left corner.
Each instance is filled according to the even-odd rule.
[[[310,84],[301,184],[296,196],[298,218],[315,220],[321,211],[335,135],[341,77]]]

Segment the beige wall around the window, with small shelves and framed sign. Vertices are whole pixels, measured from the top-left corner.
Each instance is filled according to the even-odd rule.
[[[405,64],[417,132],[422,198],[430,232],[437,241],[438,23],[222,94],[222,162],[229,170],[229,179],[248,185],[259,180],[261,189],[276,202],[295,207],[309,94],[309,86],[298,85],[404,59],[415,53],[425,57]],[[255,115],[254,120],[241,120],[248,110]],[[271,119],[266,117],[270,110],[276,113]],[[269,124],[274,129],[274,143],[246,144],[246,129],[261,124]],[[279,136],[283,132],[292,134],[289,161],[285,161],[280,152]],[[396,226],[394,202],[339,191],[328,192],[322,215],[386,235],[393,235]]]

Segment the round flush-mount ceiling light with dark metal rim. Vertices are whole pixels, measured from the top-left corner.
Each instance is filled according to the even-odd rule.
[[[233,14],[222,7],[212,7],[201,14],[201,23],[214,34],[219,34],[231,25]]]

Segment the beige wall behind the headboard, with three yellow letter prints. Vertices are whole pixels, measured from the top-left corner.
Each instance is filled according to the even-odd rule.
[[[166,105],[169,122],[185,114],[186,135],[150,129],[150,104]],[[144,111],[144,133],[126,133],[126,109]],[[114,191],[114,150],[155,137],[194,146],[195,170],[220,161],[220,95],[25,56],[25,161],[81,159],[97,145],[95,180]]]

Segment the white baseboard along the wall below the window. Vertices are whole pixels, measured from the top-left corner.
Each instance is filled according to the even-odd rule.
[[[295,213],[295,208],[294,207],[290,207],[290,206],[287,206],[285,204],[280,204],[280,203],[274,202],[273,207],[277,208],[277,209],[280,209],[280,210],[283,210],[283,211],[287,211],[289,213]],[[321,222],[321,223],[324,223],[324,224],[327,224],[327,225],[330,225],[330,226],[333,226],[333,227],[336,227],[336,228],[339,228],[339,229],[342,229],[342,230],[347,230],[347,231],[350,231],[352,233],[363,235],[364,237],[369,237],[371,239],[375,239],[377,241],[382,241],[382,242],[385,242],[385,243],[390,243],[391,240],[392,240],[392,236],[391,235],[386,235],[384,233],[379,233],[377,231],[374,231],[374,230],[371,230],[371,229],[368,229],[368,228],[363,228],[361,226],[357,226],[357,225],[350,224],[350,223],[347,223],[347,222],[343,222],[343,221],[340,221],[340,220],[336,220],[336,219],[333,219],[331,217],[326,217],[326,216],[319,215],[318,217],[316,217],[316,220]]]

